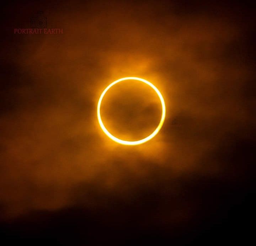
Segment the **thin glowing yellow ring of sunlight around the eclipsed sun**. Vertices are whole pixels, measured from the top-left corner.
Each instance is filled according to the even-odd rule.
[[[146,84],[148,84],[151,88],[154,89],[154,91],[156,92],[156,94],[158,94],[158,97],[161,101],[161,105],[162,105],[162,116],[161,116],[161,120],[159,122],[158,127],[156,127],[155,131],[153,131],[148,137],[145,137],[141,140],[138,141],[125,141],[125,140],[121,140],[115,136],[113,136],[104,126],[102,120],[101,120],[101,115],[100,115],[100,106],[101,106],[101,102],[102,99],[104,97],[104,95],[106,94],[106,92],[108,91],[108,89],[110,89],[114,84],[121,82],[123,80],[138,80],[138,81],[142,81]],[[164,98],[162,97],[162,94],[160,93],[160,91],[158,90],[158,88],[156,88],[154,86],[154,84],[150,83],[147,80],[144,80],[143,78],[137,78],[137,77],[126,77],[126,78],[120,78],[119,80],[116,80],[114,82],[112,82],[108,87],[106,87],[106,89],[102,92],[100,99],[98,100],[98,105],[97,105],[97,116],[98,116],[98,122],[101,126],[102,131],[109,137],[111,138],[113,141],[120,143],[120,144],[125,144],[125,145],[137,145],[137,144],[142,144],[145,143],[147,141],[149,141],[151,138],[153,138],[161,129],[162,125],[164,124],[164,120],[165,120],[165,102],[164,102]]]

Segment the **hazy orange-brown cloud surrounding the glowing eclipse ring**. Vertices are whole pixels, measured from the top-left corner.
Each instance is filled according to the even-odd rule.
[[[6,20],[1,47],[5,220],[73,206],[101,213],[117,203],[137,212],[145,206],[150,216],[140,220],[141,226],[183,225],[199,216],[207,180],[225,187],[243,184],[248,159],[240,161],[238,152],[244,150],[241,141],[253,142],[255,127],[249,45],[254,24],[248,26],[236,7],[191,8],[168,1],[5,7],[15,16]],[[49,28],[63,28],[62,35],[11,33],[29,28],[38,9],[45,10]],[[111,141],[97,123],[101,92],[126,76],[153,82],[166,102],[164,126],[140,146]],[[133,137],[145,135],[159,117],[157,98],[141,87],[145,94],[132,98],[127,89],[120,101],[120,90],[113,89],[114,98],[105,105],[115,117],[108,124],[123,126],[122,136],[126,126],[130,134],[137,131]],[[127,123],[129,116],[139,123]]]

